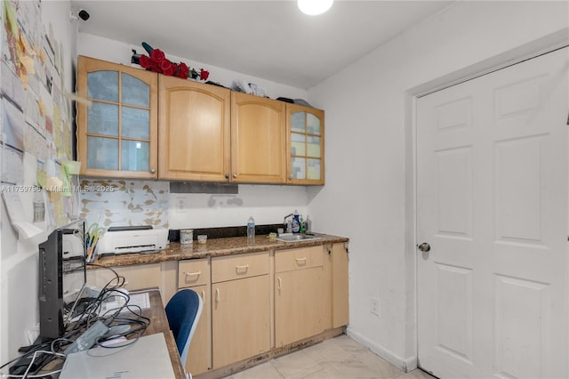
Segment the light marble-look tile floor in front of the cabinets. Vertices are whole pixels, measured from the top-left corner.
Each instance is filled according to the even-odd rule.
[[[322,343],[270,359],[225,379],[433,379],[421,371],[404,373],[369,349],[341,335]]]

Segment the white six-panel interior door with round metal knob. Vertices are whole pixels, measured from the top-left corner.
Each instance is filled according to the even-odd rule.
[[[564,48],[417,101],[418,358],[433,375],[569,376],[568,66]]]

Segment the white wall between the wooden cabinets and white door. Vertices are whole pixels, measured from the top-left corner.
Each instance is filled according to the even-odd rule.
[[[309,213],[350,238],[349,334],[399,367],[416,365],[410,94],[567,38],[568,17],[567,2],[457,2],[309,90],[326,110]]]

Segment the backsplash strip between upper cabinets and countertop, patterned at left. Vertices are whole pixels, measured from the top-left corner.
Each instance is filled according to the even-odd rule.
[[[238,193],[222,193],[192,183],[205,193],[191,193],[188,189],[180,193],[172,191],[171,184],[82,179],[79,217],[88,225],[97,222],[102,228],[153,225],[180,230],[244,227],[249,216],[257,225],[282,224],[284,215],[294,210],[308,213],[309,198],[303,186],[243,184],[235,191]]]

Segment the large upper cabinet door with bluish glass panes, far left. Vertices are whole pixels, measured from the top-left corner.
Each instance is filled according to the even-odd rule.
[[[80,56],[77,153],[81,175],[157,178],[157,74]]]

